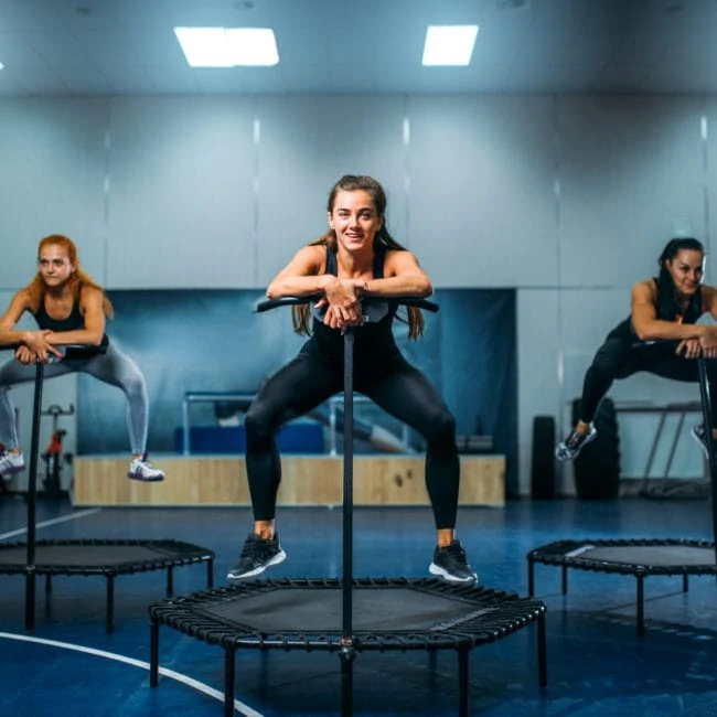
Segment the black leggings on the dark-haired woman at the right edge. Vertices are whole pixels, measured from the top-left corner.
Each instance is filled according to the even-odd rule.
[[[606,342],[598,349],[598,353],[596,353],[592,364],[590,364],[585,375],[580,420],[589,424],[595,419],[600,402],[614,379],[627,378],[640,371],[646,371],[673,381],[697,383],[699,381],[697,361],[676,355],[677,343],[675,341],[633,349],[632,342],[625,339],[608,336]],[[710,395],[715,397],[711,402],[711,420],[713,426],[717,427],[717,394],[715,394],[717,366],[714,364],[713,361],[707,362],[707,375]]]

